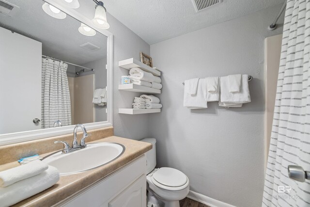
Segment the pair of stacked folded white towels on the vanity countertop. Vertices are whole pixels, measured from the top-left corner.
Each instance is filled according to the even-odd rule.
[[[0,206],[12,206],[52,187],[59,172],[40,160],[0,172]]]

